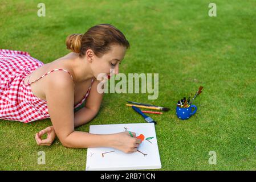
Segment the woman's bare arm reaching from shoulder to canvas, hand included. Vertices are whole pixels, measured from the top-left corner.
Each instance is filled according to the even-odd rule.
[[[137,151],[141,140],[130,137],[128,132],[98,135],[75,131],[73,82],[66,73],[56,72],[54,74],[55,78],[49,79],[49,84],[47,84],[46,100],[52,126],[63,146],[71,148],[113,147],[127,153]]]

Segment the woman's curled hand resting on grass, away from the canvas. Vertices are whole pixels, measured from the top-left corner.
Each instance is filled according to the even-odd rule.
[[[47,138],[41,139],[42,136],[46,133],[47,133]],[[46,129],[43,129],[39,131],[39,133],[35,134],[35,140],[39,146],[50,146],[54,141],[55,137],[56,137],[56,133],[54,131],[53,126],[48,126]]]

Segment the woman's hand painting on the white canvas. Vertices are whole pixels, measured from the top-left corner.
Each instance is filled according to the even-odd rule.
[[[141,139],[136,138],[136,134],[131,132],[133,137],[128,131],[112,134],[113,136],[113,148],[123,151],[127,154],[136,152],[138,150]]]

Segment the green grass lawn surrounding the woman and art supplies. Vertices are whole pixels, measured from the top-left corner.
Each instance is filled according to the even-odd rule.
[[[256,2],[214,1],[217,17],[208,16],[212,1],[43,1],[46,17],[37,16],[42,1],[3,1],[1,48],[27,51],[49,63],[68,53],[64,41],[99,23],[111,23],[131,43],[120,67],[123,73],[159,73],[159,98],[148,94],[105,94],[89,125],[140,123],[143,118],[125,101],[168,106],[151,115],[162,170],[255,170],[256,163]],[[199,86],[197,113],[188,121],[175,115],[176,102]],[[0,123],[0,169],[84,170],[86,149],[37,146],[34,135],[50,119]],[[46,165],[37,164],[38,151]],[[216,151],[217,165],[209,165]]]

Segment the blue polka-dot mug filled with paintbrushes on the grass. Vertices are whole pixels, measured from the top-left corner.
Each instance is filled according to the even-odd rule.
[[[202,92],[203,87],[200,86],[197,93],[192,98],[192,101],[190,101],[190,97],[188,100],[186,100],[186,97],[184,97],[182,100],[178,101],[177,107],[176,107],[176,115],[178,118],[184,120],[189,119],[192,117],[192,115],[196,114],[197,112],[197,106],[192,105],[193,100]],[[194,110],[192,111],[192,109]]]

